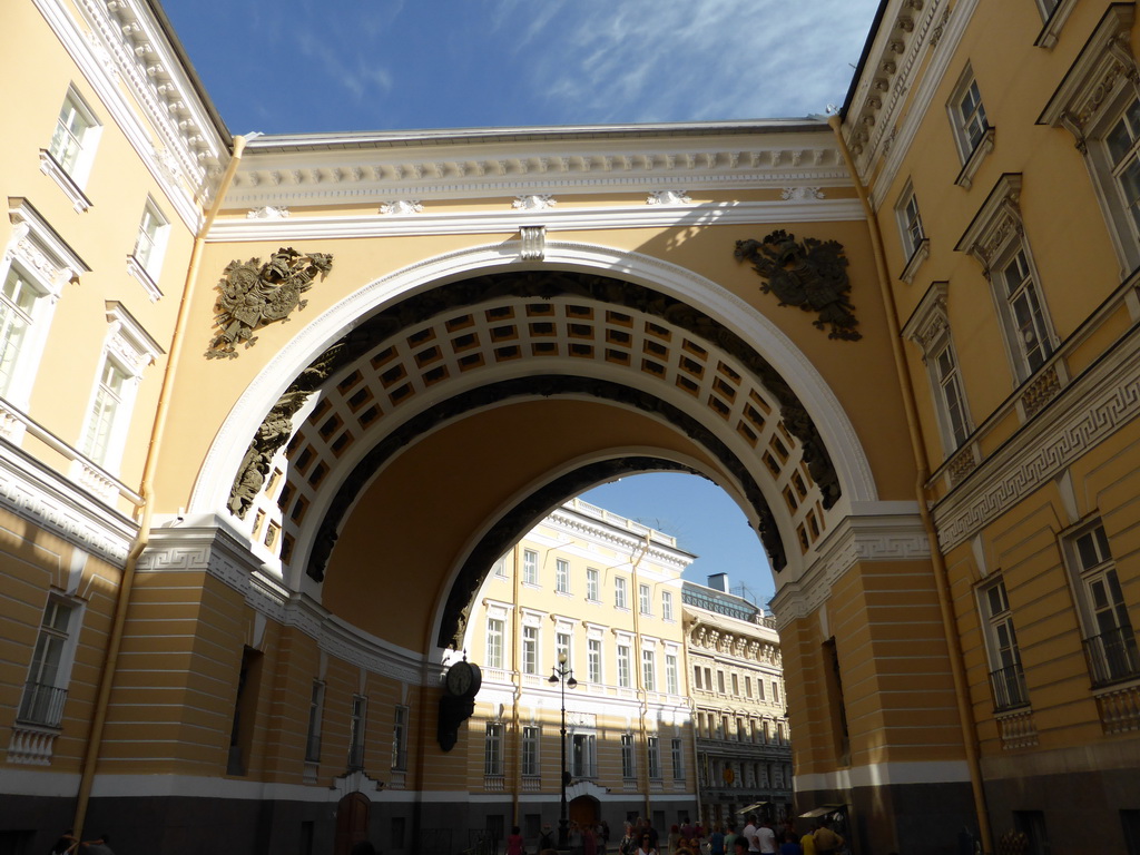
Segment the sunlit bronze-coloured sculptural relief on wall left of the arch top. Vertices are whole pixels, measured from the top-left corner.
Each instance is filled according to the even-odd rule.
[[[252,347],[259,328],[275,320],[288,320],[293,309],[303,309],[301,294],[324,279],[333,267],[333,256],[324,252],[303,255],[293,247],[282,247],[264,264],[261,259],[231,261],[218,283],[214,326],[218,334],[210,342],[206,357],[237,356],[237,343]]]

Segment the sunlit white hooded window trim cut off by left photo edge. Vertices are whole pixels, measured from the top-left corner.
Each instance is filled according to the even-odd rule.
[[[47,343],[48,329],[55,314],[56,303],[65,285],[79,282],[89,268],[27,199],[9,199],[8,217],[13,223],[11,238],[0,262],[0,282],[8,276],[15,264],[40,294],[32,311],[32,326],[21,348],[13,385],[6,400],[14,407],[26,409],[32,394],[32,385],[39,373],[40,360]],[[0,408],[2,408],[0,404]],[[5,420],[7,421],[7,420]],[[23,437],[23,420],[14,424],[16,433],[5,437],[18,442]]]

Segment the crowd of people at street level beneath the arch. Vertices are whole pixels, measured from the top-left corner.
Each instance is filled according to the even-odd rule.
[[[568,842],[572,855],[608,855],[610,826],[571,822]],[[549,825],[543,826],[539,855],[555,853],[557,836]],[[519,828],[507,838],[506,855],[526,855]],[[658,832],[644,817],[627,822],[617,841],[617,855],[844,855],[848,852],[844,838],[823,820],[806,832],[797,831],[792,820],[779,826],[756,815],[747,817],[739,831],[735,823],[714,823],[709,828],[685,819],[667,836]]]

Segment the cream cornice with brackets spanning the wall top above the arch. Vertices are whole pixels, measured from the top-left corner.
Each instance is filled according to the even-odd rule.
[[[441,131],[414,139],[360,135],[341,145],[329,138],[324,146],[263,137],[246,149],[227,202],[378,205],[393,198],[846,187],[850,178],[829,130],[806,122],[757,123],[734,133],[709,125],[697,138],[684,124],[518,129],[471,138]]]

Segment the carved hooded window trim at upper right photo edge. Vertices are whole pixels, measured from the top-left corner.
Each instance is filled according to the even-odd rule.
[[[1122,279],[1140,267],[1140,236],[1122,209],[1102,139],[1122,112],[1140,97],[1131,82],[1137,75],[1130,48],[1134,15],[1131,6],[1108,7],[1037,119],[1037,124],[1069,131],[1084,155]]]

